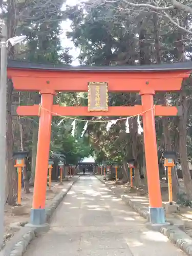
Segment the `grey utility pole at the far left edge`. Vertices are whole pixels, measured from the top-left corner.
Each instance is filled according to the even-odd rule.
[[[2,22],[0,78],[0,249],[4,240],[4,205],[6,181],[6,114],[7,114],[7,26]]]

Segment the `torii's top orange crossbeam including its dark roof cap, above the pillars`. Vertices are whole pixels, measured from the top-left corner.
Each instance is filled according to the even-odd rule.
[[[88,82],[108,82],[109,92],[177,91],[192,62],[149,66],[66,66],[11,60],[8,77],[21,91],[87,92]]]

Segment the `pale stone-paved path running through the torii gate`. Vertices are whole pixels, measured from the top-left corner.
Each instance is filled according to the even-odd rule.
[[[94,176],[81,176],[25,256],[184,256]]]

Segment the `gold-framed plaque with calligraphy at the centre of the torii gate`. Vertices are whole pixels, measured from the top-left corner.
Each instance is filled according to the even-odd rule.
[[[89,82],[88,111],[108,111],[107,82]]]

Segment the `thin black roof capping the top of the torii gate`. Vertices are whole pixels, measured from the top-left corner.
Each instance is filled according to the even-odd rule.
[[[162,63],[142,66],[70,66],[62,64],[44,64],[19,60],[8,60],[8,68],[15,69],[33,69],[33,70],[49,70],[49,71],[78,71],[78,72],[163,72],[163,71],[179,71],[191,70],[192,61]]]

